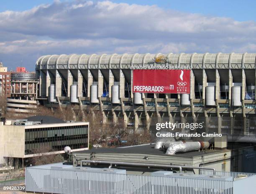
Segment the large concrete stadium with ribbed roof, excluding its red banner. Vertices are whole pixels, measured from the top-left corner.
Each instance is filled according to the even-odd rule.
[[[133,69],[160,67],[191,69],[190,94],[132,92]],[[103,123],[122,121],[138,130],[156,117],[201,119],[218,132],[237,128],[248,134],[255,128],[256,54],[46,55],[36,61],[36,73],[41,103],[100,111]]]

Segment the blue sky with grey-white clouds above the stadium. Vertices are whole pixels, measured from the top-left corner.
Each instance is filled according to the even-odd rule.
[[[255,7],[252,0],[2,0],[0,61],[32,71],[48,54],[255,53]]]

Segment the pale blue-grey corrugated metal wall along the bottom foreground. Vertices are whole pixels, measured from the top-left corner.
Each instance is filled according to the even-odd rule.
[[[233,194],[233,181],[26,168],[26,191],[60,194]]]

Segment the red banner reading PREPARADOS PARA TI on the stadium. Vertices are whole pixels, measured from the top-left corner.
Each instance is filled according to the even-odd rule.
[[[190,70],[135,69],[133,92],[189,94]]]

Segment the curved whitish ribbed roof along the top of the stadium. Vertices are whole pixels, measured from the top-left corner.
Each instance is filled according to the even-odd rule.
[[[255,69],[256,54],[71,54],[45,55],[37,69],[130,69],[131,66],[166,64],[192,69]],[[41,68],[38,68],[41,66]],[[67,66],[67,67],[66,67]],[[55,67],[55,68],[54,68]]]

